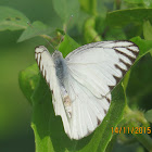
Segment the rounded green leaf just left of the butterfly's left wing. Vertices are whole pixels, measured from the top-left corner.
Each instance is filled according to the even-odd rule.
[[[26,69],[20,72],[18,75],[18,83],[21,90],[23,91],[24,96],[27,100],[31,103],[31,94],[36,89],[36,86],[39,81],[39,69],[37,64],[34,64]]]

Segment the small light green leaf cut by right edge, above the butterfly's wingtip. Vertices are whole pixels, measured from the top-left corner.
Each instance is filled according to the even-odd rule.
[[[143,23],[143,36],[145,40],[152,40],[152,26],[149,21]]]

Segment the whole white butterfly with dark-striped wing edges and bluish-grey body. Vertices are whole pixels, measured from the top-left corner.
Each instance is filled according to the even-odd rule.
[[[139,53],[131,41],[100,41],[85,45],[63,59],[39,46],[35,58],[52,91],[55,115],[61,115],[71,139],[91,134],[105,117],[111,91]]]

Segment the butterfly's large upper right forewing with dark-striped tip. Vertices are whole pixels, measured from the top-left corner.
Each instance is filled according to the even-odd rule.
[[[123,78],[138,53],[138,47],[131,41],[103,41],[85,45],[65,60],[72,76],[101,98]]]

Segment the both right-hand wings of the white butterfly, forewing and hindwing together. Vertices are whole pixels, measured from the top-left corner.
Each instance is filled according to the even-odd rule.
[[[83,46],[65,58],[68,77],[64,85],[72,100],[71,138],[89,135],[103,121],[112,89],[138,52],[130,41],[104,41]]]

